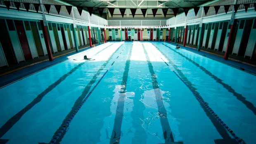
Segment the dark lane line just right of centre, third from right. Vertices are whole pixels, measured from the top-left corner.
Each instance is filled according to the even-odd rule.
[[[174,144],[174,143],[183,144],[183,142],[174,142],[173,134],[171,132],[171,127],[170,127],[170,124],[168,122],[167,112],[166,112],[166,109],[164,107],[163,99],[161,97],[161,92],[160,92],[160,88],[159,88],[159,85],[158,85],[158,82],[157,82],[156,74],[154,72],[152,63],[149,59],[149,56],[148,56],[147,51],[146,51],[143,44],[142,44],[142,47],[143,47],[144,54],[145,54],[146,59],[147,59],[147,65],[148,65],[149,72],[151,74],[151,79],[152,79],[152,86],[153,86],[153,89],[154,89],[154,93],[156,95],[156,104],[157,104],[157,107],[158,107],[158,113],[159,113],[160,122],[161,122],[162,130],[163,130],[165,144]]]

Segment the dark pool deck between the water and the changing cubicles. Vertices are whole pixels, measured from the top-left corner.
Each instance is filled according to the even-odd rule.
[[[173,46],[177,45],[172,42],[166,42],[168,44],[171,44]],[[104,43],[102,43],[104,44]],[[99,45],[99,44],[98,44]],[[95,45],[97,46],[97,45]],[[188,50],[191,52],[194,52],[196,54],[202,55],[204,57],[208,57],[210,59],[219,61],[223,64],[227,64],[229,66],[232,66],[234,68],[237,68],[241,71],[245,71],[247,73],[251,73],[252,75],[256,76],[256,66],[253,64],[244,63],[242,61],[237,61],[235,59],[229,58],[228,60],[223,59],[221,55],[214,54],[211,52],[206,51],[198,51],[197,49],[193,47],[183,47],[180,45],[181,48],[184,50]],[[83,52],[85,50],[89,50],[93,47],[83,47],[79,49],[79,52]],[[71,56],[73,54],[76,54],[76,50],[69,50],[69,51],[63,51],[63,54],[56,55],[54,57],[53,61],[49,61],[49,59],[44,59],[42,61],[29,61],[26,63],[26,65],[16,64],[17,66],[13,66],[12,68],[8,68],[8,71],[4,73],[0,73],[0,88],[5,87],[6,85],[9,85],[11,83],[14,83],[17,80],[21,80],[22,78],[26,78],[27,76],[32,75],[33,73],[36,73],[38,71],[42,71],[45,68],[48,68],[50,66],[54,66],[55,64],[59,64],[63,61],[66,61],[68,56]],[[19,66],[20,65],[20,66]]]

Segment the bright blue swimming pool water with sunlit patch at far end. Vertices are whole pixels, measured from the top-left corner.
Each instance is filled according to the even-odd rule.
[[[0,89],[0,143],[256,143],[256,76],[166,42],[68,58]]]

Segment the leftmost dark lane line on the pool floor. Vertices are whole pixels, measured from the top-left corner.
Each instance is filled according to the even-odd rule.
[[[111,45],[107,46],[110,47]],[[105,50],[107,47],[105,47],[103,50]],[[102,52],[102,50],[100,51]],[[97,54],[99,54],[99,52],[97,52]],[[95,54],[95,55],[97,55]],[[39,103],[43,97],[50,92],[51,90],[53,90],[57,85],[59,85],[62,81],[64,81],[66,79],[67,76],[69,76],[71,73],[73,73],[74,71],[76,71],[79,67],[81,67],[84,63],[78,64],[76,67],[74,67],[73,69],[71,69],[68,73],[66,73],[65,75],[63,75],[62,77],[60,77],[57,81],[55,81],[55,83],[53,83],[52,85],[50,85],[49,87],[47,87],[43,92],[41,92],[40,94],[38,94],[38,96],[33,99],[33,101],[31,103],[29,103],[27,106],[25,106],[21,111],[19,111],[18,113],[16,113],[14,116],[12,116],[12,118],[10,118],[9,120],[7,120],[7,122],[2,125],[2,127],[0,128],[0,138],[5,135],[6,132],[8,132],[13,125],[15,125],[15,123],[17,123],[21,117],[27,112],[29,111],[33,106],[35,106],[37,103]]]

